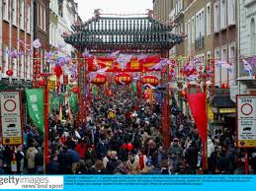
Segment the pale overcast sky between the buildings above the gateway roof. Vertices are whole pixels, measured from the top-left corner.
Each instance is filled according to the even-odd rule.
[[[142,14],[146,9],[152,9],[152,0],[75,0],[78,3],[79,16],[83,21],[93,17],[95,9],[102,13]]]

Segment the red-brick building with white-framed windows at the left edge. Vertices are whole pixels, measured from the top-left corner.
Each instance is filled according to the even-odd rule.
[[[32,44],[34,37],[33,8],[32,0],[0,1],[0,73],[5,88],[31,84],[33,62],[26,45]],[[12,51],[18,55],[11,57]],[[13,72],[12,76],[6,74],[8,70]]]

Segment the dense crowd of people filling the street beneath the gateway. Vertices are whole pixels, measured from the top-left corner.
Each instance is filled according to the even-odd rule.
[[[161,102],[148,101],[116,89],[114,96],[93,96],[88,117],[78,125],[58,113],[48,117],[49,162],[47,174],[243,174],[243,150],[237,149],[227,128],[208,139],[208,170],[202,170],[202,143],[190,116],[172,109],[171,144],[166,147],[161,131]],[[43,173],[43,134],[28,125],[24,145],[1,146],[0,173]],[[256,155],[250,164],[256,171]]]

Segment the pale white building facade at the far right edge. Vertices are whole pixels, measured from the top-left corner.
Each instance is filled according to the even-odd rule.
[[[256,1],[243,0],[238,1],[238,64],[237,64],[237,77],[238,86],[237,93],[239,95],[252,95],[256,94],[256,68],[255,65],[252,71],[252,79],[248,79],[249,73],[244,70],[243,59],[252,62],[253,57],[256,55]]]

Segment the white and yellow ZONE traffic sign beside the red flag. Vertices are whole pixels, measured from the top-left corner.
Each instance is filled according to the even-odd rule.
[[[236,96],[237,146],[256,147],[256,95]]]

